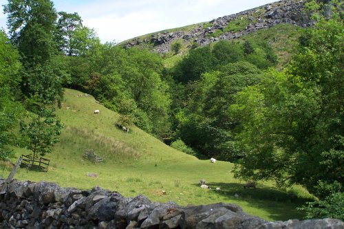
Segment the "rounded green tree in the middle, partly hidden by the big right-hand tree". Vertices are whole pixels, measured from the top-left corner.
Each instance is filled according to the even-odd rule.
[[[261,78],[255,65],[242,61],[202,75],[201,80],[190,85],[190,102],[184,116],[179,116],[182,140],[204,155],[234,160],[239,155],[232,133],[236,123],[228,107],[235,94],[259,83]]]

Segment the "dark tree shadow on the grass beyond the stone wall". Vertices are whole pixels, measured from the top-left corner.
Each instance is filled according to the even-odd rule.
[[[193,185],[200,186],[200,184]],[[211,187],[214,194],[237,201],[246,201],[252,207],[265,210],[269,213],[268,216],[275,220],[302,219],[304,212],[296,208],[305,204],[306,201],[311,201],[311,199],[297,197],[294,193],[286,193],[266,186],[258,185],[254,189],[244,188],[244,184],[222,182],[207,183],[207,185]],[[221,190],[215,190],[217,187]]]

